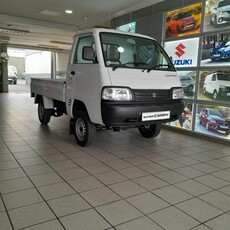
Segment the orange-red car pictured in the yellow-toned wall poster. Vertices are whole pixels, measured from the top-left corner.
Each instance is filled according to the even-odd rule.
[[[181,33],[187,30],[194,30],[195,28],[196,19],[189,12],[180,12],[171,17],[168,31],[169,33],[173,31]]]

